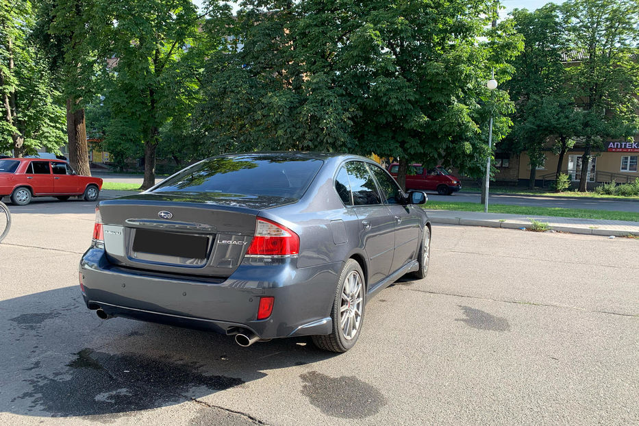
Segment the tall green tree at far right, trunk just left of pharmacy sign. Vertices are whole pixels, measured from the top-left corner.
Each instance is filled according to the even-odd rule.
[[[579,191],[586,191],[592,151],[609,138],[638,132],[639,2],[636,0],[568,0],[563,5],[573,49],[584,55],[568,68],[583,110]]]

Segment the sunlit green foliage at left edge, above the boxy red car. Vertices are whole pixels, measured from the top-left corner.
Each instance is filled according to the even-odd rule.
[[[33,27],[31,1],[0,4],[0,151],[10,149],[16,157],[42,147],[59,153],[64,145],[64,110],[55,103],[59,94]]]

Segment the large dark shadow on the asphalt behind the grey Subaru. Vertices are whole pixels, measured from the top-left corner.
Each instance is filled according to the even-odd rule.
[[[0,412],[101,421],[335,356],[310,338],[242,348],[206,331],[103,321],[86,309],[77,286],[0,301],[0,341]]]

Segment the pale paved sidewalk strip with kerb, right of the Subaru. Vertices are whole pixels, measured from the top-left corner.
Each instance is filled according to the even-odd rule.
[[[521,229],[530,227],[530,219],[548,223],[551,229],[571,234],[601,236],[639,236],[639,221],[603,221],[598,219],[565,218],[550,216],[523,216],[520,214],[499,214],[483,212],[455,212],[449,210],[429,210],[432,223],[450,225],[487,226],[496,228]]]

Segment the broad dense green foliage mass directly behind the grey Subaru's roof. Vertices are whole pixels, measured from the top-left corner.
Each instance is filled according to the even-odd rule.
[[[212,151],[310,149],[454,164],[479,175],[494,134],[508,133],[508,94],[494,68],[522,47],[512,23],[487,29],[492,1],[244,1],[205,66],[197,123]],[[400,177],[401,179],[401,177]]]

